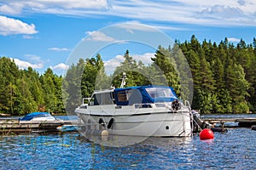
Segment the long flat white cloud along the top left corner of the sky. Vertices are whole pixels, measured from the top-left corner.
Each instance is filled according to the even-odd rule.
[[[0,13],[79,14],[84,9],[107,9],[108,0],[0,0]]]

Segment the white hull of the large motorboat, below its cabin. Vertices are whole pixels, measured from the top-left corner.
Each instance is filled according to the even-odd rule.
[[[112,110],[112,111],[111,111]],[[101,110],[78,109],[76,113],[84,122],[85,131],[108,130],[109,134],[154,137],[191,136],[191,116],[188,108],[138,109],[130,106]]]

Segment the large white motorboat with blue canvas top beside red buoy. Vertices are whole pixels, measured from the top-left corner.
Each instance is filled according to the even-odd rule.
[[[114,135],[187,137],[192,135],[189,102],[177,99],[173,88],[139,86],[95,91],[75,112],[85,131]],[[88,100],[88,104],[84,101]]]

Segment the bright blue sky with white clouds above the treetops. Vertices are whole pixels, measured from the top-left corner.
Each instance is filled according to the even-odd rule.
[[[123,23],[126,34],[114,30],[114,26]],[[129,39],[129,35],[137,35],[135,30],[142,35],[148,27],[181,42],[195,35],[200,41],[206,38],[220,42],[228,37],[235,44],[241,38],[251,43],[256,37],[256,2],[0,0],[0,56],[15,59],[20,69],[32,66],[44,73],[50,67],[56,74],[62,74],[76,48],[86,40],[83,58],[100,53],[108,68],[118,65],[126,49],[148,63],[155,52],[155,47],[148,46],[154,34],[145,36],[145,41]],[[90,48],[93,44],[97,48]],[[96,50],[87,51],[90,49]]]

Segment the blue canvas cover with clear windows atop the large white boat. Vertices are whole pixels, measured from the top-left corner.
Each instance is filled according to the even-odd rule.
[[[147,89],[154,89],[156,92],[161,89],[171,90],[172,97],[157,97],[150,96]],[[170,90],[169,90],[170,89]],[[155,93],[155,92],[153,92]],[[114,98],[116,105],[133,105],[133,104],[148,104],[156,102],[171,102],[177,99],[174,89],[166,86],[139,86],[131,88],[116,88],[114,89]]]

